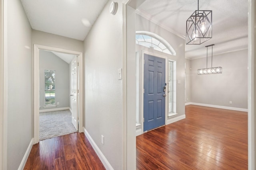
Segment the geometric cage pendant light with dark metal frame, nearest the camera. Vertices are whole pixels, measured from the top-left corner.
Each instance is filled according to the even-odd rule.
[[[202,44],[212,38],[212,11],[196,10],[186,21],[186,44]]]

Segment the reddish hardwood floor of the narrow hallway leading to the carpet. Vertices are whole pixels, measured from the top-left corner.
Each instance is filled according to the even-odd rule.
[[[84,133],[71,133],[33,145],[24,170],[105,170]]]

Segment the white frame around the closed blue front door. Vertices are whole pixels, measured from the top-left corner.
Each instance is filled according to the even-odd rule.
[[[142,62],[141,62],[141,73],[142,73],[142,84],[141,84],[141,104],[142,104],[142,107],[141,107],[141,120],[143,120],[144,118],[144,92],[143,92],[143,89],[144,89],[144,54],[147,54],[147,55],[152,55],[154,57],[159,57],[159,58],[162,58],[162,59],[165,59],[165,83],[167,83],[167,78],[168,78],[168,57],[166,56],[163,56],[163,55],[158,55],[156,53],[151,53],[151,52],[148,52],[148,51],[144,51],[142,50]],[[164,125],[167,124],[167,117],[168,117],[168,94],[166,95],[166,98],[165,98],[165,121],[164,121]],[[144,122],[141,121],[141,133],[143,134],[144,133]]]

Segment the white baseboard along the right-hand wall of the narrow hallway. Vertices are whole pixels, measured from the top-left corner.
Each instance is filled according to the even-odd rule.
[[[94,151],[96,152],[96,154],[98,155],[98,157],[100,158],[102,164],[104,165],[104,167],[106,168],[106,170],[114,170],[114,168],[112,168],[111,164],[108,162],[107,158],[104,156],[104,154],[101,152],[101,150],[99,149],[99,147],[96,145],[96,143],[93,141],[92,137],[90,136],[90,134],[88,133],[88,131],[86,131],[86,129],[84,128],[84,134],[87,137],[87,139],[89,140],[90,144],[92,145]]]

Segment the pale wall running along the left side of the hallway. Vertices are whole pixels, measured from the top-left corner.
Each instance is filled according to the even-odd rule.
[[[31,27],[19,0],[8,0],[7,169],[18,169],[32,139]]]

